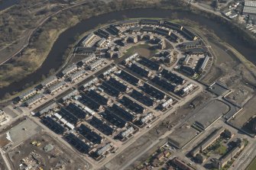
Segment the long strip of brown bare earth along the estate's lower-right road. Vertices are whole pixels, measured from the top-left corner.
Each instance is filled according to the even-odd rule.
[[[203,96],[203,98],[198,99],[196,97],[196,100],[200,100],[201,104],[199,104],[198,108],[202,108],[204,103],[207,102],[210,97],[212,96],[209,94],[209,92],[202,92],[199,94],[199,96]],[[194,101],[195,98],[193,98],[191,101]],[[190,108],[190,102],[183,105],[183,107],[180,107],[176,114],[170,114],[163,122],[160,122],[157,124],[157,127],[154,127],[152,130],[150,130],[148,133],[146,133],[144,136],[141,136],[138,140],[136,140],[135,143],[133,143],[131,146],[129,146],[127,149],[125,149],[121,154],[118,156],[115,156],[114,159],[112,159],[108,164],[105,165],[106,169],[118,169],[122,163],[127,162],[128,160],[131,160],[134,156],[138,155],[141,150],[146,149],[147,146],[150,146],[151,143],[153,143],[155,140],[157,140],[158,137],[162,136],[167,131],[171,130],[172,126],[175,126],[180,120],[183,120],[183,117],[186,117],[186,115],[191,114],[193,109]],[[191,127],[191,130],[193,128]],[[194,131],[194,130],[193,130]],[[195,130],[196,131],[196,130]],[[163,145],[168,138],[160,140],[157,146]],[[164,141],[164,142],[163,142]],[[150,149],[148,153],[154,152],[157,147],[154,147],[154,149]],[[138,161],[134,162],[134,166],[131,165],[131,167],[136,167],[139,162],[143,161],[144,158],[146,158],[147,154],[144,154],[145,156],[142,156]],[[128,168],[130,169],[130,168]],[[134,169],[134,168],[131,168]]]

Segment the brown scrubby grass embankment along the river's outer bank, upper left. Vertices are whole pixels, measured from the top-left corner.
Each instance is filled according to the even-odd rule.
[[[37,30],[37,33],[31,38],[29,46],[24,50],[20,58],[6,63],[5,66],[0,68],[0,88],[11,84],[11,82],[18,81],[24,78],[24,76],[28,76],[39,68],[46,59],[57,37],[59,37],[64,30],[80,21],[110,11],[118,11],[126,8],[151,8],[153,6],[153,3],[144,4],[137,1],[112,2],[109,4],[105,4],[104,2],[89,2],[88,5],[80,5],[79,7],[57,14]],[[79,40],[79,35],[74,38]],[[72,45],[74,44],[70,44],[69,49],[66,50],[63,56],[63,62],[65,63],[66,59],[69,59],[68,56],[72,50]],[[44,79],[45,76],[46,75],[43,75],[42,79]],[[38,82],[31,82],[25,85],[24,89],[37,83]],[[19,91],[13,91],[11,94],[7,93],[4,97],[5,101],[14,98],[18,93]]]

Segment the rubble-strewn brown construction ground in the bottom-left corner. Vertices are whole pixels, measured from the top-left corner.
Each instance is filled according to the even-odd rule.
[[[39,141],[41,146],[33,146],[31,141],[34,140]],[[53,150],[48,152],[44,151],[44,146],[47,146],[47,144],[53,145]],[[66,170],[84,168],[83,162],[77,158],[74,153],[70,152],[68,149],[65,149],[65,147],[61,146],[59,143],[53,140],[51,136],[45,133],[38,133],[37,135],[32,136],[30,139],[26,140],[17,148],[8,152],[8,156],[12,160],[15,169],[18,169],[18,165],[20,165],[21,159],[29,156],[32,151],[41,156],[43,160],[41,164],[45,165],[42,167],[44,169],[50,169],[52,167],[57,168],[61,164],[63,164],[62,169]]]

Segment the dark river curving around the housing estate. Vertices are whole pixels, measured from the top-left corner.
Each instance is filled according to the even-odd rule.
[[[36,72],[28,75],[28,77],[19,82],[14,82],[11,85],[8,85],[8,87],[0,88],[0,96],[5,95],[7,92],[11,93],[12,91],[20,91],[25,84],[39,81],[41,76],[47,75],[50,69],[57,70],[60,68],[63,62],[63,53],[70,43],[75,43],[73,37],[75,37],[77,34],[83,34],[84,32],[97,27],[99,24],[106,24],[108,21],[118,21],[123,20],[124,18],[170,18],[172,14],[178,19],[190,19],[203,25],[209,30],[213,30],[218,37],[221,37],[226,43],[232,45],[232,47],[238,50],[243,56],[245,56],[246,59],[251,61],[251,63],[256,64],[255,47],[251,47],[246,44],[242,37],[233,34],[232,30],[230,30],[227,26],[216,21],[212,21],[209,18],[205,18],[198,14],[193,14],[189,11],[173,11],[155,8],[115,11],[81,21],[74,27],[70,27],[70,29],[64,31],[53,44],[53,47],[41,68],[37,69]]]

